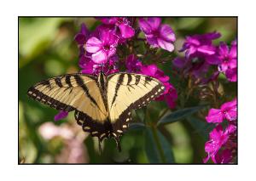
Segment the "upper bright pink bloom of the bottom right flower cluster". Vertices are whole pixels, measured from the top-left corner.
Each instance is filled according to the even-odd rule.
[[[237,101],[236,99],[226,102],[219,109],[211,109],[206,117],[207,122],[223,122],[224,119],[232,122],[237,118]]]

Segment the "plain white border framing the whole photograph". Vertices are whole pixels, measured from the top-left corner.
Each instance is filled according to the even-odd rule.
[[[3,1],[2,1],[3,2]],[[236,180],[255,174],[255,9],[253,1],[4,1],[1,2],[0,179],[8,180]],[[252,3],[251,3],[252,2]],[[119,6],[119,7],[117,7]],[[238,15],[238,166],[18,166],[18,15]]]

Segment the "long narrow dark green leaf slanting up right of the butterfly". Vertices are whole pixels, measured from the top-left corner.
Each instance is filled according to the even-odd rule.
[[[174,112],[171,112],[164,116],[162,119],[160,119],[159,122],[157,122],[157,125],[160,126],[162,124],[177,122],[182,120],[183,118],[190,116],[194,114],[195,112],[201,110],[202,108],[205,108],[207,105],[200,105],[190,108],[184,108],[183,110],[177,110]]]

